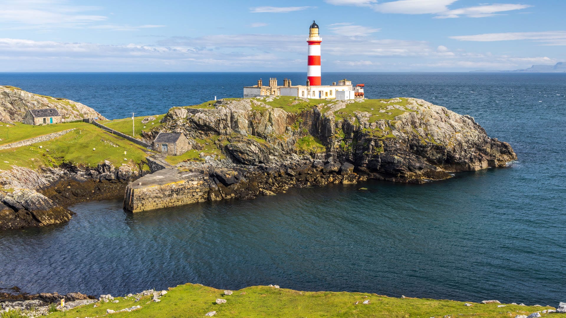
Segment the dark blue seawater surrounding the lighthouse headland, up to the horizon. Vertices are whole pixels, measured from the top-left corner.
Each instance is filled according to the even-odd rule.
[[[270,76],[304,78],[0,73],[0,85],[123,118],[239,97]],[[0,232],[0,287],[119,295],[185,282],[273,283],[543,306],[566,299],[566,74],[323,74],[341,78],[365,83],[370,98],[418,97],[469,114],[518,160],[419,185],[291,189],[139,214],[121,201],[79,204],[67,224]]]

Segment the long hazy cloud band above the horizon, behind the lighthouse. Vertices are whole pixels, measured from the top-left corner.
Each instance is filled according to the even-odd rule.
[[[171,37],[155,45],[0,38],[0,52],[4,71],[304,71],[307,45],[305,35],[272,34]],[[552,57],[466,52],[426,41],[348,35],[325,37],[322,55],[328,71],[512,70],[556,62]]]

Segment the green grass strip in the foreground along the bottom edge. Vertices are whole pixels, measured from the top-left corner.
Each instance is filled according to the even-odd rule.
[[[217,298],[226,299],[216,304]],[[133,299],[117,298],[119,303],[101,303],[75,308],[66,312],[55,312],[50,317],[94,317],[106,315],[107,309],[121,310],[141,306],[132,312],[119,312],[109,317],[204,317],[216,311],[214,317],[383,317],[383,318],[428,318],[452,315],[456,317],[508,318],[550,309],[550,307],[525,307],[498,304],[478,304],[466,307],[464,302],[417,298],[389,298],[377,294],[346,292],[312,292],[276,289],[267,286],[246,287],[224,295],[223,290],[201,285],[179,285],[164,296],[161,302],[149,302],[150,296]],[[370,303],[362,304],[363,300]],[[149,302],[149,303],[148,303]],[[358,304],[354,304],[359,302]],[[511,312],[511,316],[507,312]],[[459,315],[459,314],[463,315]],[[544,314],[543,314],[544,315]],[[552,313],[549,317],[566,317]]]

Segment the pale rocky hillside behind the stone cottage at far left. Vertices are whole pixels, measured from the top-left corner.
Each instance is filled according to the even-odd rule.
[[[106,119],[80,102],[33,94],[13,86],[0,86],[0,122],[21,122],[25,111],[38,108],[56,108],[63,118],[68,119]]]

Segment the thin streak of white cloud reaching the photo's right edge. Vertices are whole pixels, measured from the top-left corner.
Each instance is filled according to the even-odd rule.
[[[483,33],[479,35],[451,36],[454,40],[493,42],[531,40],[542,45],[566,45],[566,31]]]

